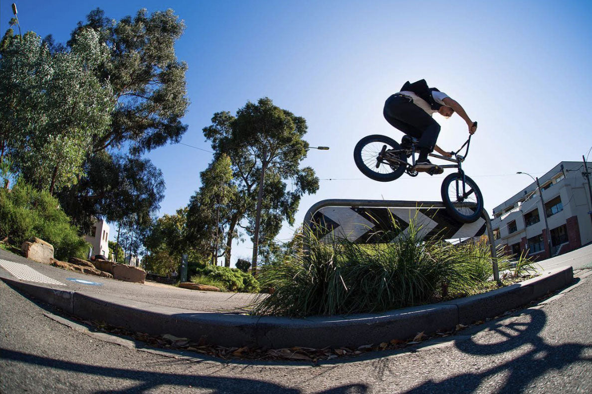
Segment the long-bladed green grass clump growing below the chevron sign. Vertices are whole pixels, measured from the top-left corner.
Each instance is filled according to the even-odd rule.
[[[253,311],[259,315],[306,317],[381,312],[474,292],[490,276],[484,246],[458,246],[441,239],[423,241],[422,225],[375,234],[392,240],[356,244],[345,238],[304,234],[304,250],[282,263],[263,267],[262,288]]]

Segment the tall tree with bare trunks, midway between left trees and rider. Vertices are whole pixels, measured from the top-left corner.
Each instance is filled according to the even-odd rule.
[[[318,177],[311,167],[300,167],[307,154],[303,140],[306,121],[262,98],[247,102],[236,112],[218,112],[212,124],[204,128],[215,157],[227,154],[233,169],[238,198],[229,209],[227,228],[227,263],[236,227],[246,219],[244,229],[253,240],[253,271],[259,244],[266,244],[278,234],[282,221],[294,224],[301,196],[318,190]],[[288,190],[287,181],[292,183]],[[258,197],[260,198],[258,199]],[[258,215],[260,201],[260,217]],[[260,225],[260,231],[257,227]],[[259,242],[255,235],[263,235]]]

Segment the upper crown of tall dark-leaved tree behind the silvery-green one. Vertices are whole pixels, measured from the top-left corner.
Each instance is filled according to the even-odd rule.
[[[99,41],[114,50],[96,75],[109,79],[117,106],[111,128],[96,138],[93,150],[130,147],[133,155],[178,142],[187,130],[181,118],[189,105],[185,83],[187,65],[179,62],[175,43],[185,30],[172,9],[149,14],[145,8],[120,21],[99,8],[78,23],[67,46],[74,47],[79,31],[92,28]]]

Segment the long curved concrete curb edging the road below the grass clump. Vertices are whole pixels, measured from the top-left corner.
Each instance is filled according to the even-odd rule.
[[[383,314],[348,317],[251,317],[188,311],[115,296],[97,298],[84,292],[47,288],[2,276],[2,280],[34,298],[79,318],[107,322],[130,331],[172,334],[227,347],[260,345],[271,348],[358,347],[392,339],[404,340],[423,331],[452,330],[496,317],[573,282],[571,266],[543,273],[516,285],[453,301],[397,309]]]

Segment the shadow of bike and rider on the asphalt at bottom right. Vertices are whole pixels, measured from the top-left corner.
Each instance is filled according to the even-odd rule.
[[[546,324],[545,312],[539,309],[527,309],[523,315],[530,316],[529,323],[511,322],[502,325],[496,322],[493,325],[493,331],[507,338],[501,343],[481,344],[474,340],[475,337],[471,337],[469,340],[455,341],[455,346],[463,353],[474,356],[507,354],[523,347],[523,345],[530,345],[531,350],[483,372],[459,374],[440,382],[429,380],[406,391],[406,393],[453,392],[468,394],[475,392],[481,385],[488,384],[488,379],[493,379],[498,374],[506,374],[506,377],[504,377],[501,387],[498,387],[496,392],[523,392],[538,377],[551,370],[561,370],[578,361],[592,363],[592,357],[583,356],[584,351],[592,349],[592,345],[580,343],[553,345],[545,343],[539,335]]]

